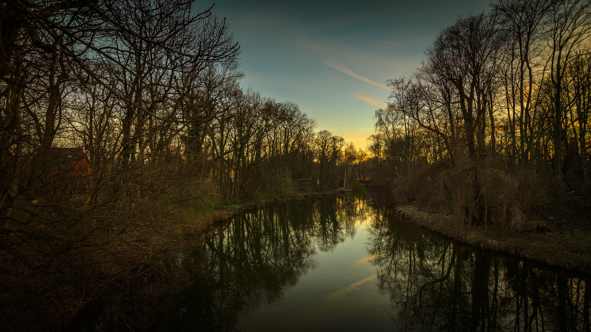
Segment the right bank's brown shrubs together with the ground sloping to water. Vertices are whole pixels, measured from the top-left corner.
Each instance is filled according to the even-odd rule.
[[[551,200],[549,172],[460,155],[454,165],[411,174],[391,184],[387,200],[413,222],[482,249],[591,273],[589,198]]]

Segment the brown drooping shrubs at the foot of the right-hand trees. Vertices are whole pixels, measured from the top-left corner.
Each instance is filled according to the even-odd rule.
[[[491,225],[505,235],[535,230],[532,209],[547,198],[548,181],[533,168],[507,171],[504,165],[501,159],[459,155],[453,165],[417,166],[393,181],[391,200],[450,215],[454,229]]]

